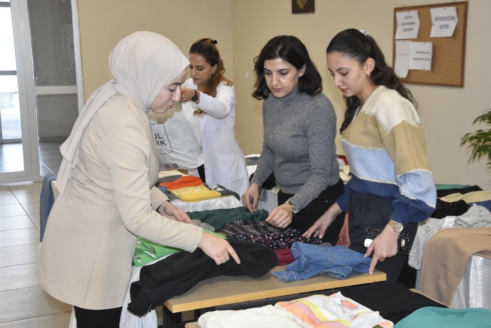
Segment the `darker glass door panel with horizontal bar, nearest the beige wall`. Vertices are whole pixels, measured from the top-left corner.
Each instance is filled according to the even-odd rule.
[[[79,114],[73,1],[27,0],[34,66],[34,97],[41,175],[57,172],[59,145],[72,131]],[[75,4],[76,8],[76,4]]]

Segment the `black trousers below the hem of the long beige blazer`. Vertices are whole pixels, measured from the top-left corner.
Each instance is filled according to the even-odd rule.
[[[73,308],[77,328],[119,328],[122,306],[104,310],[87,310],[78,306]]]

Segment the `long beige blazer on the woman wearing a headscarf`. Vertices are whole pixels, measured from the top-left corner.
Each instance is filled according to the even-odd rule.
[[[159,165],[145,112],[112,96],[83,132],[79,161],[55,201],[40,250],[40,286],[86,309],[120,307],[137,236],[193,251],[203,230],[155,211]]]

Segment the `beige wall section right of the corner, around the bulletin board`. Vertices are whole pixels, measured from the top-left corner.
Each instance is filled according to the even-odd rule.
[[[325,58],[332,36],[345,28],[366,28],[382,48],[386,61],[392,63],[394,7],[442,2],[446,1],[317,0],[314,14],[293,15],[290,0],[233,0],[234,83],[238,95],[236,133],[244,153],[261,150],[261,102],[250,96],[254,81],[252,76],[246,79],[246,72],[252,70],[252,58],[270,38],[293,34],[306,45],[321,72],[324,93],[336,109],[340,126],[345,104],[327,74]],[[475,184],[490,189],[491,174],[486,172],[486,162],[467,165],[466,149],[460,147],[460,138],[477,128],[471,126],[473,119],[491,108],[490,14],[491,1],[469,0],[463,88],[407,85],[419,103],[436,183]],[[336,144],[341,154],[340,139],[338,134]]]

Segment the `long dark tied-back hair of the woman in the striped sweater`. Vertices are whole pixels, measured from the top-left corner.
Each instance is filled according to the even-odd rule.
[[[401,96],[408,99],[414,107],[417,107],[411,91],[399,81],[394,70],[387,65],[382,50],[380,50],[377,42],[370,35],[365,35],[355,28],[345,29],[332,38],[327,46],[326,53],[339,53],[340,55],[356,60],[361,66],[365,64],[368,58],[373,58],[375,60],[375,67],[370,73],[369,79],[375,85],[384,85],[389,89],[396,90]],[[355,112],[360,106],[360,100],[356,96],[344,98],[347,109],[344,113],[343,124],[339,129],[341,134],[353,120]]]

